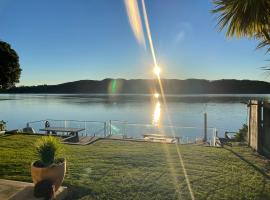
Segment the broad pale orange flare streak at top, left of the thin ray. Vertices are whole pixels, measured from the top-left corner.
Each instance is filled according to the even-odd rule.
[[[126,11],[131,29],[137,41],[145,47],[145,39],[142,28],[142,21],[137,0],[125,0]]]

